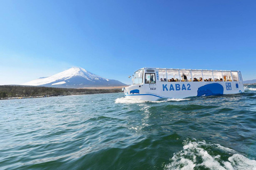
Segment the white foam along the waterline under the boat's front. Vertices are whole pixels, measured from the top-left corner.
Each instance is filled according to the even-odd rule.
[[[148,100],[139,100],[139,99],[130,99],[130,98],[117,98],[115,100],[115,103],[122,103],[122,104],[134,104],[134,103],[163,103],[167,101],[184,101],[184,100],[190,100],[190,99],[165,99],[160,101],[148,101]]]

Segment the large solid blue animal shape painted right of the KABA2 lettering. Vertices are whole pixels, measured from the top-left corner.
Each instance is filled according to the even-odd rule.
[[[197,96],[217,96],[223,95],[223,86],[219,83],[206,84],[197,90]]]

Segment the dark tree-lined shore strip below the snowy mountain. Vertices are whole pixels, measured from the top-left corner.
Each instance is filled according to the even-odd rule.
[[[10,97],[67,96],[121,92],[121,89],[68,89],[38,86],[0,86],[0,99]]]

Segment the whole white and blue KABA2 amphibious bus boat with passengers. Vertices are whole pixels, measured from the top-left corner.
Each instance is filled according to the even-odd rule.
[[[126,98],[155,101],[161,98],[217,96],[244,92],[240,71],[161,69],[144,67],[134,72]]]

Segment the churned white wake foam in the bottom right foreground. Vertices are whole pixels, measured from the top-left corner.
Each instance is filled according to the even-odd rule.
[[[205,141],[185,141],[183,145],[183,150],[174,154],[170,159],[172,163],[165,165],[165,169],[256,169],[256,160],[221,145],[207,144]],[[232,156],[225,160],[214,150]]]

